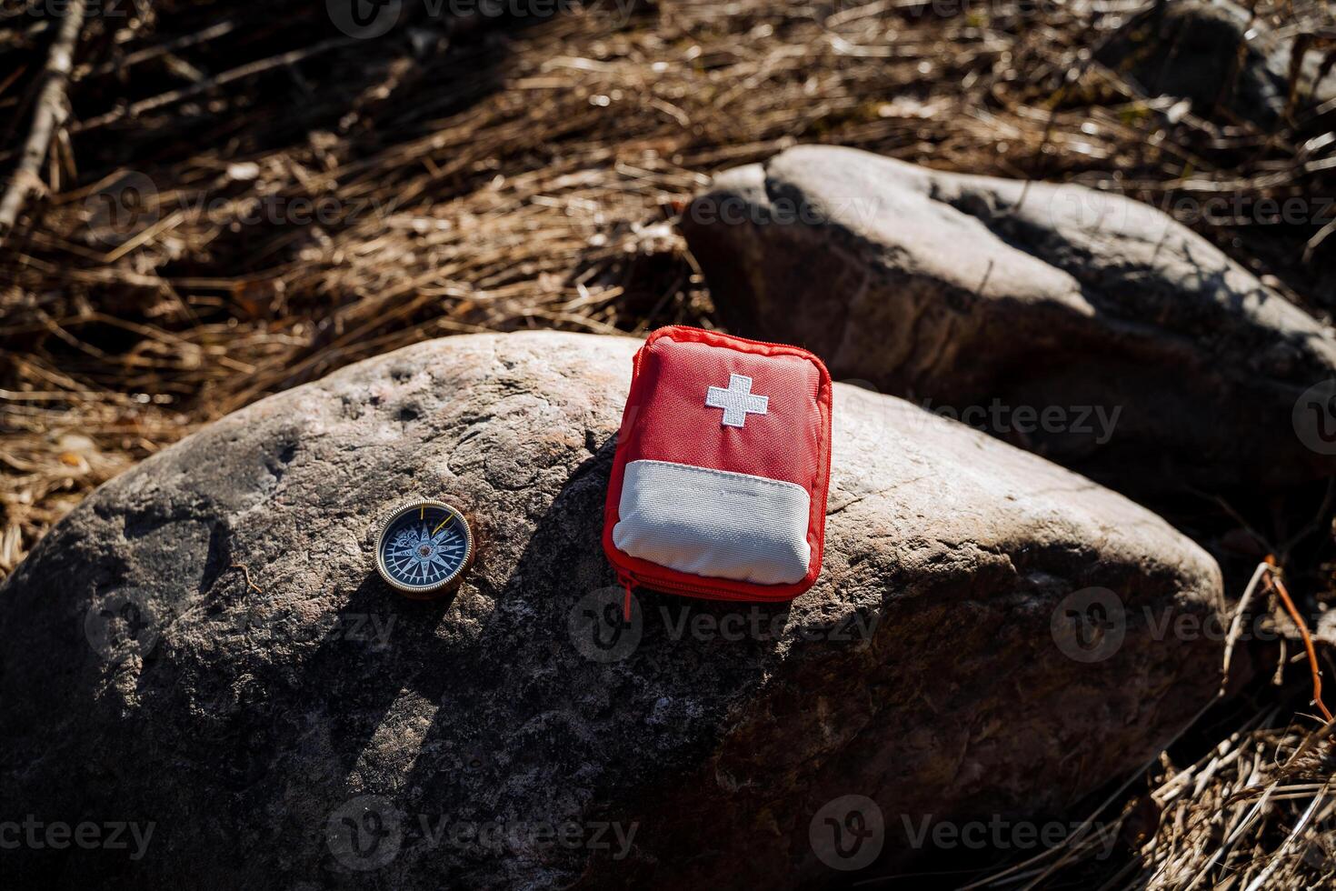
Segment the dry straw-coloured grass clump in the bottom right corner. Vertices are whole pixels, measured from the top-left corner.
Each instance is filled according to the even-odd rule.
[[[1325,888],[1336,882],[1336,723],[1312,729],[1271,707],[1194,761],[1168,753],[1149,787],[1120,789],[1070,840],[973,888]],[[1101,862],[1110,839],[1132,856]]]

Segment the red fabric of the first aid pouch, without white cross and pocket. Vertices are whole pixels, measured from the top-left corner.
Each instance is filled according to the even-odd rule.
[[[748,414],[741,427],[723,425],[723,410],[705,405],[708,389],[728,387],[729,374],[752,378],[751,393],[768,398],[766,414]],[[648,588],[721,600],[792,600],[820,574],[830,430],[830,373],[807,350],[703,329],[659,329],[636,353],[617,434],[604,506],[608,560],[624,580]],[[617,550],[612,529],[619,520],[625,466],[639,460],[749,473],[803,486],[811,497],[807,577],[790,585],[758,585],[692,576]]]

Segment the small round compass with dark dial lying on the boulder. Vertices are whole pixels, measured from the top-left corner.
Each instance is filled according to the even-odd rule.
[[[411,501],[375,537],[375,568],[391,588],[429,598],[454,588],[473,562],[473,532],[444,501]]]

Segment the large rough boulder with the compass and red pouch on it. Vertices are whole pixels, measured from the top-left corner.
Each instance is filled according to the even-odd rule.
[[[846,386],[816,588],[791,608],[637,592],[632,625],[603,625],[636,346],[407,347],[84,501],[0,586],[0,826],[36,839],[0,852],[7,882],[828,884],[831,863],[903,860],[927,815],[1062,812],[1213,695],[1218,640],[1162,624],[1218,617],[1204,552]],[[411,494],[482,541],[444,602],[373,569],[374,521]],[[884,838],[846,862],[851,795]],[[52,850],[61,822],[134,832]]]

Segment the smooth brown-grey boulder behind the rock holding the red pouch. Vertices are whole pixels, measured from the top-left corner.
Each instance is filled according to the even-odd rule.
[[[1336,378],[1331,329],[1149,206],[808,146],[683,226],[735,333],[1124,492],[1336,472],[1311,429],[1336,417],[1296,409]]]

